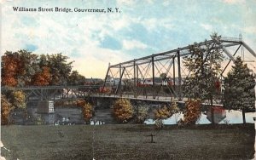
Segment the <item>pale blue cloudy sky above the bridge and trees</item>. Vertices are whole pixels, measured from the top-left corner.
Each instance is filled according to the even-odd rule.
[[[112,65],[210,39],[239,37],[256,50],[255,0],[0,0],[1,54],[62,53],[85,77]],[[15,12],[13,7],[105,9],[118,13]]]

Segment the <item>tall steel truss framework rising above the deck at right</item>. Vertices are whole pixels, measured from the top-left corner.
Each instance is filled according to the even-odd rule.
[[[236,56],[241,56],[246,63],[254,62],[255,65],[255,52],[241,38],[212,38],[197,44],[201,49],[206,49],[207,46],[210,46],[210,49],[219,49],[224,55],[220,78],[224,77],[230,70]],[[185,78],[189,77],[189,71],[183,66],[183,57],[191,54],[189,52],[190,47],[191,45],[188,45],[108,66],[104,87],[109,87],[113,94],[120,96],[123,94],[133,95],[134,98],[150,96],[157,99],[158,96],[168,94],[169,97],[183,100],[185,94],[183,94],[181,86]],[[204,57],[207,57],[207,54],[211,53],[205,52]],[[249,65],[253,66],[252,64]],[[256,72],[255,66],[253,69]],[[169,77],[166,82],[160,80],[162,73]],[[113,83],[117,83],[115,88],[111,87]],[[171,85],[169,85],[170,83]]]

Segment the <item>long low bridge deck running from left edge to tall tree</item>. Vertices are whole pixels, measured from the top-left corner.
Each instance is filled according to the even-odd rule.
[[[27,86],[27,87],[2,87],[2,91],[6,90],[23,90],[26,92],[27,101],[33,100],[76,100],[84,99],[88,96],[91,98],[97,99],[119,99],[125,98],[129,100],[137,100],[144,102],[155,102],[155,103],[171,103],[172,100],[176,101],[178,104],[184,104],[184,101],[188,100],[183,98],[178,100],[172,96],[153,96],[153,95],[137,95],[134,96],[132,93],[123,93],[123,94],[106,94],[100,93],[99,89],[101,85],[78,85],[78,86]],[[81,91],[82,89],[82,91]],[[84,89],[84,90],[83,90]],[[30,97],[35,96],[36,98],[29,99]],[[209,103],[203,103],[203,105],[209,105]],[[214,106],[222,106],[220,103],[215,102]]]

